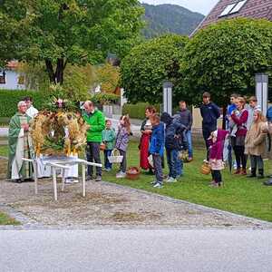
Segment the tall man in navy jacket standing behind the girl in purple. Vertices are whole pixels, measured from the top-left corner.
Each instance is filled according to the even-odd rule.
[[[202,116],[202,133],[207,149],[207,160],[209,160],[209,142],[208,138],[212,131],[216,131],[218,127],[218,119],[220,117],[219,107],[210,102],[209,92],[203,93],[203,104],[200,106]]]

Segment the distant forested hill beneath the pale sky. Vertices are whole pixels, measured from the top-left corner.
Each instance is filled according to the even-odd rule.
[[[191,12],[180,5],[143,6],[147,22],[143,34],[147,38],[166,33],[189,35],[204,18],[204,15]]]

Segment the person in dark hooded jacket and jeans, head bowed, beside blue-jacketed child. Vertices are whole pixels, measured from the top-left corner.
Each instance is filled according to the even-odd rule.
[[[167,155],[167,163],[169,166],[169,177],[166,182],[176,182],[178,163],[178,152],[181,151],[185,143],[184,131],[186,127],[181,124],[178,118],[172,118],[169,113],[163,112],[160,121],[166,124],[165,127],[165,148]]]

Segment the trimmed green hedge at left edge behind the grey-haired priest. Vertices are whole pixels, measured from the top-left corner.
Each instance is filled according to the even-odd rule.
[[[43,108],[47,100],[43,92],[27,91],[27,90],[0,90],[0,116],[12,117],[17,111],[17,103],[21,101],[24,96],[31,96],[34,101],[34,107],[38,110]]]

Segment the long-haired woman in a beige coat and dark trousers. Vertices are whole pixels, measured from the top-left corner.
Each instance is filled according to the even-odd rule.
[[[245,140],[245,154],[249,155],[251,164],[251,174],[248,178],[264,178],[264,161],[262,156],[266,152],[267,123],[260,110],[256,110],[253,115],[251,125]],[[256,170],[258,168],[258,176]]]

